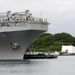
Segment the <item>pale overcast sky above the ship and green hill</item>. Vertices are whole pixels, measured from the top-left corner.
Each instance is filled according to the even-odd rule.
[[[75,37],[75,0],[0,0],[0,13],[30,10],[34,17],[47,18],[48,33],[66,32]]]

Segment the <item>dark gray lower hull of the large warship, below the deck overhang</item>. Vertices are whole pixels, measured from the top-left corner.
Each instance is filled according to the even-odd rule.
[[[23,59],[23,55],[33,40],[44,31],[24,30],[0,33],[0,59]],[[11,42],[17,43],[13,49]]]

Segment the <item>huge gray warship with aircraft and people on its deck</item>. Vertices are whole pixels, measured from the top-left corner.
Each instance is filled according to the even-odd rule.
[[[0,59],[23,59],[31,43],[48,30],[47,19],[35,18],[29,10],[0,13]]]

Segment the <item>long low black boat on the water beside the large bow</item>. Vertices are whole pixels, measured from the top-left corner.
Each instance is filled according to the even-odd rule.
[[[36,53],[36,54],[24,54],[24,59],[52,59],[52,58],[57,58],[58,55],[56,54],[48,54],[48,55],[45,55],[44,53]]]

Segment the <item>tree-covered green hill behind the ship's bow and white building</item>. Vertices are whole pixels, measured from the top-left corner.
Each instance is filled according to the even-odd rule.
[[[75,37],[68,33],[49,34],[39,36],[29,47],[31,51],[60,51],[62,45],[75,46]]]

